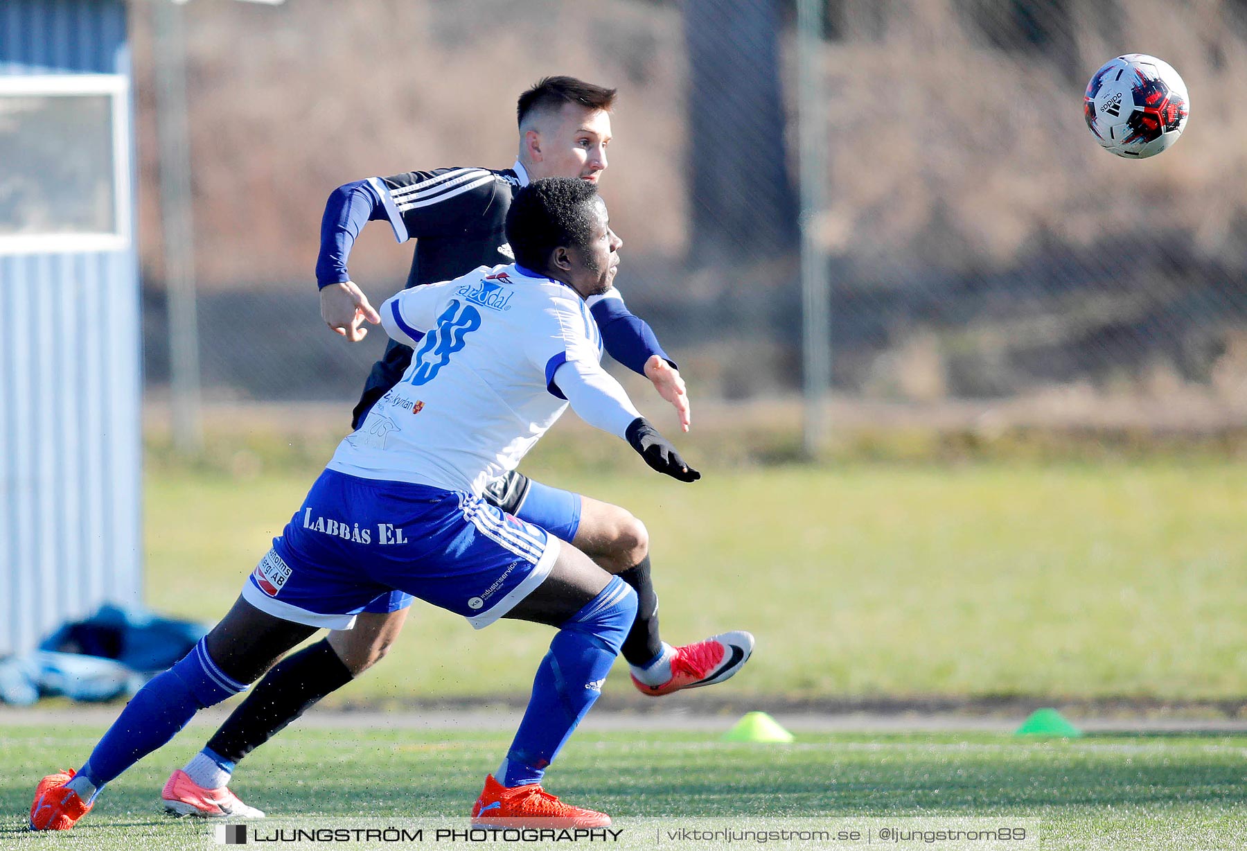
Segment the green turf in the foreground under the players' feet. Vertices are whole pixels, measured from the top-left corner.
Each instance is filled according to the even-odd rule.
[[[72,831],[27,834],[35,780],[81,762],[99,732],[0,730],[6,814],[0,846],[216,847],[203,821],[167,819],[156,804],[171,767],[198,746],[195,731],[110,785]],[[458,730],[292,729],[281,745],[247,761],[234,787],[279,817],[266,825],[297,815],[293,824],[304,827],[318,819],[374,816],[439,817],[461,826],[506,742],[499,734]],[[582,731],[551,771],[549,787],[620,819],[995,816],[1004,824],[1034,817],[1041,820],[1044,849],[1188,851],[1243,847],[1245,756],[1245,736],[1029,741],[986,734],[811,734],[792,745],[729,745],[713,732]]]

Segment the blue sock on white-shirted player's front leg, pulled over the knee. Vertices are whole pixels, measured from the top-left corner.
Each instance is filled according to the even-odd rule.
[[[537,668],[532,698],[498,770],[504,786],[541,782],[554,757],[601,694],[636,616],[636,591],[614,576],[562,625]]]

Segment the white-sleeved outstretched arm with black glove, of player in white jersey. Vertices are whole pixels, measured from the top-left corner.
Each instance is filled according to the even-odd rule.
[[[681,482],[701,478],[701,473],[690,467],[671,442],[641,416],[620,383],[599,363],[562,363],[554,372],[550,389],[566,398],[576,414],[590,426],[627,440],[652,469]]]

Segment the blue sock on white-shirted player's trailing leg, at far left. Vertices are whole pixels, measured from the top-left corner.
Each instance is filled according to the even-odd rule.
[[[180,663],[147,683],[126,704],[79,774],[102,787],[177,735],[197,711],[246,688],[247,684],[231,679],[212,661],[201,639]]]

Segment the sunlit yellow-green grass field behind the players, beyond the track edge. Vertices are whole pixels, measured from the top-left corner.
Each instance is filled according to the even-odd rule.
[[[526,469],[645,520],[668,640],[754,633],[716,696],[1247,694],[1247,463],[718,469],[707,444],[706,478],[682,485],[586,445],[604,452]],[[317,469],[152,464],[150,604],[223,614]],[[418,604],[390,658],[330,700],[524,695],[549,638]]]

